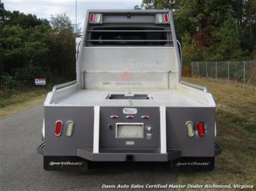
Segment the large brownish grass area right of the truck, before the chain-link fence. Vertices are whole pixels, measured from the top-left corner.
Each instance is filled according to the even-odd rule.
[[[204,85],[217,103],[216,142],[223,152],[213,172],[179,172],[177,184],[253,185],[256,182],[256,89],[196,78],[183,80]]]

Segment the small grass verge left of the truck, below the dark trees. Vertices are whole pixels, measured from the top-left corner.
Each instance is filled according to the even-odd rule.
[[[6,118],[6,116],[42,103],[48,91],[49,89],[45,87],[12,90],[8,95],[0,91],[0,118]]]

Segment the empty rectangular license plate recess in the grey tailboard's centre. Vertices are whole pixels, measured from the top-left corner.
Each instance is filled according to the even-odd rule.
[[[115,138],[144,139],[144,123],[118,123],[115,128]]]

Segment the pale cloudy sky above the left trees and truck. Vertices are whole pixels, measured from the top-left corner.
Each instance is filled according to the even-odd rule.
[[[1,1],[1,0],[0,0]],[[66,12],[73,23],[76,22],[76,0],[4,0],[6,10],[18,10],[25,14],[35,14],[49,19],[51,14]],[[77,0],[77,23],[83,27],[87,9],[133,9],[141,0]]]

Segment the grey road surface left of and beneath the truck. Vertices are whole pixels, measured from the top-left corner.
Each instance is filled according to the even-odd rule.
[[[165,163],[97,164],[87,173],[46,172],[43,157],[36,152],[42,124],[42,105],[0,120],[0,190],[103,190],[102,185],[145,187],[175,182]]]

